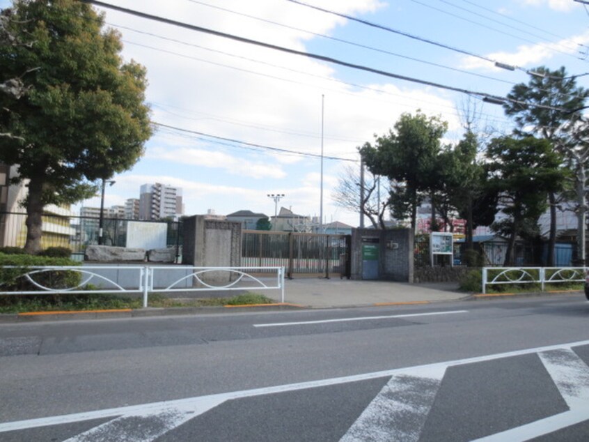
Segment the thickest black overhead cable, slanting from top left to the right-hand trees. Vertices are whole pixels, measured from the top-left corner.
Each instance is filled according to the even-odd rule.
[[[190,29],[192,31],[209,33],[209,34],[214,35],[214,36],[218,36],[218,37],[222,37],[222,38],[228,38],[230,40],[239,41],[241,43],[247,43],[247,44],[251,44],[251,45],[257,45],[257,46],[260,46],[260,47],[266,47],[267,49],[274,49],[274,50],[277,50],[277,51],[280,51],[280,52],[285,52],[285,53],[288,53],[288,54],[293,54],[293,55],[298,55],[298,56],[304,56],[304,57],[307,57],[307,58],[310,58],[310,59],[327,61],[328,63],[337,64],[339,66],[345,66],[347,68],[352,68],[352,69],[357,69],[357,70],[364,70],[366,72],[375,73],[377,75],[383,75],[385,77],[391,77],[391,78],[395,78],[395,79],[401,79],[401,80],[405,80],[407,82],[413,82],[413,83],[417,83],[417,84],[423,84],[425,86],[432,86],[432,87],[436,87],[438,89],[446,89],[447,91],[455,91],[455,92],[464,93],[464,94],[470,95],[470,96],[477,96],[477,97],[482,98],[483,100],[487,100],[489,102],[499,102],[499,101],[501,101],[503,103],[505,101],[508,101],[508,102],[513,102],[515,104],[519,104],[519,105],[539,107],[539,108],[542,108],[542,109],[552,109],[552,110],[556,110],[556,111],[559,111],[559,112],[570,112],[568,109],[563,109],[563,108],[559,108],[559,107],[544,106],[544,105],[535,105],[535,104],[532,104],[532,103],[521,102],[519,100],[513,100],[511,98],[493,96],[493,95],[491,95],[489,93],[485,93],[485,92],[469,91],[468,89],[462,89],[462,88],[455,87],[455,86],[448,86],[446,84],[440,84],[440,83],[430,82],[430,81],[423,80],[423,79],[417,79],[417,78],[414,78],[414,77],[407,77],[405,75],[398,75],[398,74],[394,74],[394,73],[389,73],[389,72],[386,72],[384,70],[370,68],[368,66],[361,66],[361,65],[358,65],[358,64],[355,64],[355,63],[348,63],[347,61],[341,61],[341,60],[338,60],[338,59],[333,59],[333,58],[331,58],[329,56],[324,56],[324,55],[320,55],[320,54],[313,54],[311,52],[297,51],[296,49],[290,49],[288,47],[272,45],[270,43],[265,43],[265,42],[261,42],[261,41],[258,41],[258,40],[251,40],[251,38],[245,38],[245,37],[235,36],[234,34],[229,34],[229,33],[221,32],[221,31],[214,31],[213,29],[203,28],[201,26],[196,26],[194,24],[188,24],[188,23],[178,22],[178,21],[170,20],[170,19],[167,19],[167,18],[164,18],[164,17],[159,17],[157,15],[150,15],[150,14],[146,14],[146,13],[141,13],[140,11],[137,11],[137,10],[127,9],[127,8],[121,8],[120,6],[114,6],[114,5],[111,5],[109,3],[104,3],[102,1],[96,1],[96,0],[80,0],[80,1],[82,1],[84,3],[91,3],[91,4],[96,5],[96,6],[102,6],[104,8],[118,10],[119,12],[122,12],[122,13],[127,13],[127,14],[130,14],[130,15],[136,15],[137,17],[146,18],[148,20],[155,20],[157,22],[171,24],[173,26],[183,27],[185,29]],[[299,3],[298,1],[295,1],[295,0],[287,0],[287,1],[294,1],[295,3]],[[304,4],[304,3],[301,3],[301,4]],[[579,109],[575,109],[575,111],[576,110],[579,110]],[[575,112],[575,111],[573,111],[573,112]]]

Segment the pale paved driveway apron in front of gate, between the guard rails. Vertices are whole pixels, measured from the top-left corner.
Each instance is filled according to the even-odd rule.
[[[270,295],[268,293],[269,296]],[[391,281],[352,281],[295,278],[285,281],[285,302],[311,308],[378,304],[430,303],[468,297],[457,282],[407,284]]]

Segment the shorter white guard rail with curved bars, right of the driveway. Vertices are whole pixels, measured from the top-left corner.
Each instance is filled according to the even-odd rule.
[[[482,293],[494,284],[546,284],[584,282],[587,267],[484,267],[482,268]]]

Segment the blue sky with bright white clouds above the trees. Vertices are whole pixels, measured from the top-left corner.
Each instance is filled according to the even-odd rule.
[[[358,147],[403,112],[441,116],[445,144],[460,141],[467,108],[479,130],[508,133],[501,106],[464,91],[506,96],[537,66],[589,72],[589,6],[574,0],[306,0],[380,27],[289,0],[104,3],[389,74],[95,7],[120,31],[125,61],[146,66],[155,123],[143,157],[113,176],[105,206],[164,183],[182,188],[186,215],[272,216],[267,195],[283,194],[278,208],[319,216],[323,207],[324,222],[356,227],[359,214],[338,207],[333,188],[346,167],[359,169]],[[577,84],[589,87],[589,75]]]

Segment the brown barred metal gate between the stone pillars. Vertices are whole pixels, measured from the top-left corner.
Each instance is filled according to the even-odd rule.
[[[350,278],[350,235],[242,231],[242,266],[284,266],[286,276]]]

